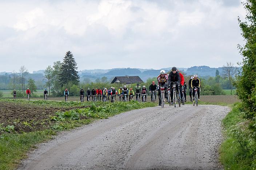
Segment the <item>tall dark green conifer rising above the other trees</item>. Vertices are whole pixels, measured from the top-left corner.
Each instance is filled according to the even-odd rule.
[[[63,86],[64,84],[68,84],[72,82],[72,84],[78,85],[79,75],[76,67],[77,63],[71,51],[67,51],[64,58],[63,64],[60,68],[60,84]]]

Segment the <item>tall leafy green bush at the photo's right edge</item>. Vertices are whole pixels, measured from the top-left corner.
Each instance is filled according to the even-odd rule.
[[[244,104],[247,118],[256,116],[256,1],[247,0],[244,3],[247,10],[245,22],[239,18],[240,28],[245,40],[244,46],[239,46],[243,55],[242,71],[237,76],[237,92]]]

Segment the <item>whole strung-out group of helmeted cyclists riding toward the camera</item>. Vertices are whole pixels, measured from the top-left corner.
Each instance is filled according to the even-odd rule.
[[[166,98],[171,105],[173,105],[173,91],[176,91],[179,93],[181,102],[187,102],[187,98],[186,98],[187,84],[184,80],[184,76],[182,75],[182,73],[180,73],[179,69],[177,69],[176,67],[172,67],[171,72],[168,75],[165,73],[164,70],[161,70],[160,75],[157,76],[157,82],[158,82],[158,86],[156,85],[155,81],[152,81],[152,84],[148,88],[149,93],[151,93],[151,101],[155,101],[156,92],[158,92],[159,106],[161,106],[161,89],[164,89],[164,98]],[[200,87],[201,87],[200,78],[198,78],[197,75],[192,76],[188,82],[190,101],[195,101],[195,91],[198,97],[197,100],[200,101]],[[174,88],[175,90],[173,90]],[[168,99],[167,93],[170,93],[170,99]],[[27,94],[27,98],[29,98],[29,95],[31,94],[31,90],[29,88],[27,88],[26,94]],[[47,95],[48,95],[48,91],[47,89],[45,89],[44,99],[47,99]],[[136,95],[137,101],[140,101],[142,99],[143,102],[146,102],[147,88],[146,86],[143,86],[141,88],[141,86],[137,84],[135,86],[135,93],[132,88],[128,89],[126,85],[124,85],[123,87],[121,86],[118,90],[116,90],[115,87],[111,87],[108,89],[93,88],[92,90],[88,88],[87,91],[85,92],[84,89],[82,88],[80,90],[81,102],[84,101],[85,95],[87,96],[87,101],[102,100],[105,102],[106,101],[114,102],[116,100],[117,95],[119,95],[120,101],[128,101],[128,98],[129,98],[129,101],[131,101],[133,100],[133,96]],[[65,101],[67,101],[68,96],[69,96],[68,89],[65,89],[64,91]],[[16,98],[16,90],[13,91],[13,97]]]

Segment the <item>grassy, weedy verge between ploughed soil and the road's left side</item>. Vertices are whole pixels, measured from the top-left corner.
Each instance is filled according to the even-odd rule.
[[[7,102],[19,102],[4,99]],[[21,101],[21,106],[22,106]],[[26,101],[25,101],[26,102]],[[35,146],[35,144],[52,139],[52,135],[56,135],[57,131],[63,131],[80,127],[83,124],[89,124],[95,119],[105,119],[109,116],[119,114],[121,112],[141,109],[144,107],[153,107],[157,103],[147,102],[115,102],[115,103],[63,103],[51,101],[31,101],[32,105],[49,105],[51,106],[66,106],[86,105],[88,107],[68,110],[65,112],[56,112],[54,116],[49,115],[48,121],[52,123],[49,127],[42,131],[17,133],[9,131],[7,133],[4,128],[0,127],[0,169],[15,169],[20,162],[20,159],[26,157],[26,153]],[[46,104],[47,103],[47,104]]]

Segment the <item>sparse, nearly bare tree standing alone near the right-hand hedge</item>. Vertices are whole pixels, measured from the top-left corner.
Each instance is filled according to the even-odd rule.
[[[238,68],[234,67],[234,64],[231,62],[227,62],[226,65],[223,65],[222,67],[222,73],[221,76],[224,78],[228,78],[229,80],[229,85],[230,85],[230,90],[231,90],[231,95],[232,95],[232,77],[235,76],[237,73]]]

